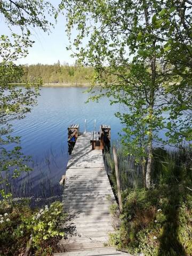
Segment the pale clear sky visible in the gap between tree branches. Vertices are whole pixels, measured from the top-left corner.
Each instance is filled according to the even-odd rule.
[[[60,0],[50,0],[50,2],[56,7],[60,3]],[[73,64],[75,60],[70,57],[71,52],[66,50],[69,41],[65,33],[65,24],[65,17],[60,15],[50,35],[37,28],[31,29],[31,33],[33,34],[31,39],[35,43],[29,49],[28,56],[25,59],[17,61],[18,64],[52,64],[58,60],[61,64],[63,62]],[[0,17],[0,34],[10,35],[10,31],[5,25],[3,17]]]

